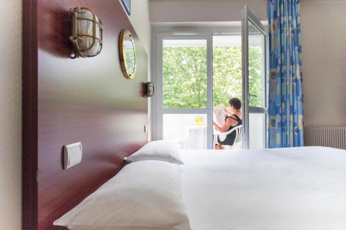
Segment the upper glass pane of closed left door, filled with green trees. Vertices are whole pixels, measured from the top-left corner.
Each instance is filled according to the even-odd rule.
[[[163,40],[163,108],[207,108],[206,39]]]

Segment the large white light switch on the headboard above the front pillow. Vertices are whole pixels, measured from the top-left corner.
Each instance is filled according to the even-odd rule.
[[[82,143],[76,142],[64,146],[64,169],[69,169],[82,161]]]

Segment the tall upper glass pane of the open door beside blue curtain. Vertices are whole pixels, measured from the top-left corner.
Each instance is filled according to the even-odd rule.
[[[265,107],[264,82],[264,35],[251,21],[248,22],[248,90],[249,106]]]

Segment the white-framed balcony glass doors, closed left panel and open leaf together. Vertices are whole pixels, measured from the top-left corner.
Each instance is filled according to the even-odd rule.
[[[267,33],[247,7],[242,31],[158,32],[155,39],[154,139],[214,148],[220,133],[213,108],[229,108],[228,100],[237,97],[243,108],[239,146],[266,148]]]

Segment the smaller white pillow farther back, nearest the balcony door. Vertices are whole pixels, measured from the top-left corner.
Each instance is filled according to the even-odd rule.
[[[158,140],[149,142],[136,153],[126,157],[127,162],[138,162],[140,160],[161,160],[175,164],[183,164],[180,157],[180,146],[175,142]]]

